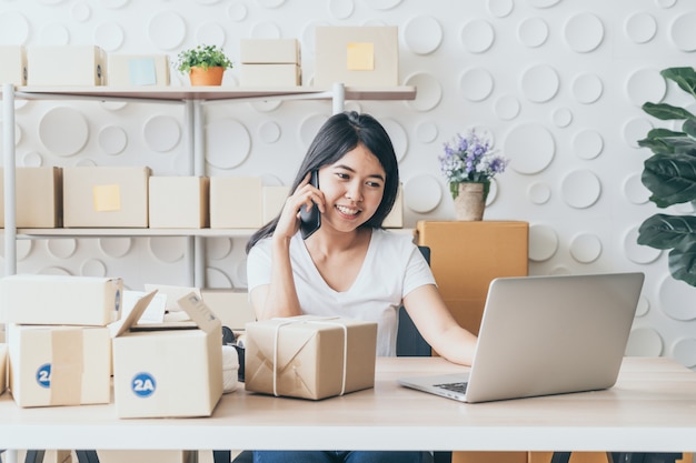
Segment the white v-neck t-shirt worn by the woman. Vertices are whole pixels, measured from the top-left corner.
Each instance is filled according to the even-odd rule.
[[[290,240],[290,260],[305,314],[377,322],[377,355],[396,355],[398,309],[404,296],[435,284],[425,258],[406,234],[372,229],[362,268],[348,291],[332,290],[321,278],[299,233]],[[260,240],[247,258],[249,291],[270,283],[270,238]]]

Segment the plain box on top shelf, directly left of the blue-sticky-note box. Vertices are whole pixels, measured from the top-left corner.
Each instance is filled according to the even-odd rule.
[[[28,85],[103,85],[107,53],[96,46],[28,46]]]

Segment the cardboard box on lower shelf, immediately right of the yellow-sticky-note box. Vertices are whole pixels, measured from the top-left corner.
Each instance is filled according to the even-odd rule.
[[[209,188],[210,179],[206,177],[150,177],[150,228],[208,227]]]

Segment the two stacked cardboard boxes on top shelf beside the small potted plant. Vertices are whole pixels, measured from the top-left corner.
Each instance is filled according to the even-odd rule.
[[[297,39],[242,39],[242,87],[296,87],[301,84]]]

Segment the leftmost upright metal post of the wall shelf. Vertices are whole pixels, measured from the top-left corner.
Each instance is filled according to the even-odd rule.
[[[17,273],[17,202],[14,200],[14,85],[2,85],[2,135],[4,143],[4,274]]]

